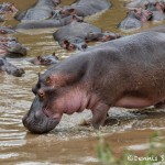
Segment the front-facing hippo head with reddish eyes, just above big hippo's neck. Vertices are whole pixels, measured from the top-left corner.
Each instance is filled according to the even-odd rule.
[[[65,48],[67,51],[75,51],[75,50],[85,51],[87,48],[86,41],[80,37],[65,40],[65,41],[61,42],[59,44],[63,48]]]

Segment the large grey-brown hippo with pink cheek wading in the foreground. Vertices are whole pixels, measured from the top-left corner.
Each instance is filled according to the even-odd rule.
[[[64,113],[90,109],[103,125],[111,107],[145,108],[165,100],[165,34],[143,32],[73,55],[38,76],[30,111],[33,133],[53,130]]]

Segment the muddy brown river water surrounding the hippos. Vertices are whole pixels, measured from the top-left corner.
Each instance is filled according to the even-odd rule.
[[[11,0],[20,10],[28,9],[34,0]],[[88,22],[107,31],[121,34],[116,29],[117,24],[125,16],[123,1],[111,0],[113,7],[102,13],[89,16]],[[3,1],[0,0],[0,3]],[[73,0],[65,0],[64,4]],[[15,25],[18,22],[9,20],[4,24]],[[164,22],[162,22],[164,23]],[[143,29],[148,29],[158,23],[148,23]],[[98,144],[98,132],[90,127],[81,125],[84,120],[91,117],[90,111],[73,116],[64,116],[61,124],[47,134],[31,134],[22,125],[22,117],[30,109],[34,98],[31,88],[37,80],[37,73],[46,68],[34,66],[29,58],[56,52],[61,59],[72,55],[63,51],[54,42],[52,33],[55,29],[24,31],[14,34],[28,48],[24,58],[9,59],[11,63],[23,67],[25,75],[21,78],[0,75],[0,165],[99,165],[95,147]],[[128,33],[127,33],[128,34]],[[99,78],[99,77],[98,77]],[[165,133],[165,110],[146,109],[130,111],[127,109],[112,109],[108,125],[101,129],[107,142],[112,146],[116,155],[124,148],[136,153],[147,150],[147,142],[154,131]]]

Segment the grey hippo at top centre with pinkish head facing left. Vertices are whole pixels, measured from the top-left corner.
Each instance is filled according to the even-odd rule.
[[[76,0],[68,7],[57,8],[54,11],[54,18],[65,18],[70,14],[87,16],[107,10],[111,7],[108,0]]]

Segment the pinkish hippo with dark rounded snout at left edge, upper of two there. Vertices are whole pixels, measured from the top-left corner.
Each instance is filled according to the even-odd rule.
[[[15,37],[0,37],[0,50],[3,50],[8,57],[26,55],[26,48]]]

